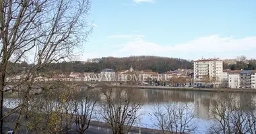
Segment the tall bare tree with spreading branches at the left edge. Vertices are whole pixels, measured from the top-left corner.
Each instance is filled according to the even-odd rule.
[[[14,111],[28,108],[28,93],[38,71],[51,62],[73,56],[73,49],[86,40],[92,26],[88,27],[85,22],[90,11],[90,0],[0,1],[0,11],[0,133],[3,133],[3,119]],[[22,89],[26,94],[24,101],[3,116],[3,92],[9,84],[6,78],[10,63],[24,60],[32,62],[32,66],[27,69],[24,78],[13,86],[15,90],[26,84],[23,86],[26,88]],[[20,120],[21,117],[17,124]]]

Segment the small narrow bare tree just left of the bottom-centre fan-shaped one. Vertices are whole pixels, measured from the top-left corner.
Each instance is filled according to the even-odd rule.
[[[75,121],[76,131],[84,134],[92,119],[94,119],[96,100],[92,98],[92,94],[96,94],[92,90],[86,91],[83,98],[74,98],[73,101],[73,121]]]

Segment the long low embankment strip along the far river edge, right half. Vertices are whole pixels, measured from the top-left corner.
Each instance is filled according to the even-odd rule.
[[[115,87],[131,87],[141,89],[158,89],[158,90],[191,90],[191,91],[206,91],[206,92],[253,92],[256,93],[256,89],[244,89],[244,88],[193,88],[193,87],[172,87],[172,86],[115,86]]]

